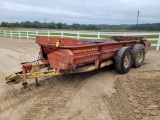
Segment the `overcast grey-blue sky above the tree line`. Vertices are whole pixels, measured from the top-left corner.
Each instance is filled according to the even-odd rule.
[[[160,0],[0,0],[0,22],[160,23]]]

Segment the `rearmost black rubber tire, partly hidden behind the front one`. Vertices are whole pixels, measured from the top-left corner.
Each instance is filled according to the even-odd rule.
[[[139,52],[142,51],[143,54],[143,58],[141,58],[141,60],[139,60]],[[145,47],[142,44],[136,44],[133,47],[133,55],[134,55],[134,60],[133,60],[133,67],[141,67],[143,65],[144,62],[144,58],[145,58]]]

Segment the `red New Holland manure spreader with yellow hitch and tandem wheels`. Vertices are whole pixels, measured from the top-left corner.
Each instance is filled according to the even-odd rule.
[[[88,72],[115,64],[121,74],[132,66],[143,64],[150,42],[145,37],[111,36],[107,39],[75,40],[37,36],[40,46],[39,59],[22,64],[22,71],[6,77],[7,84],[22,82],[27,88],[27,79]]]

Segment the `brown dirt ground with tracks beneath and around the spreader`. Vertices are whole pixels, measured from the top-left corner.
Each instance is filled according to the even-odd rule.
[[[160,120],[160,52],[149,51],[144,65],[125,75],[114,66],[6,85],[21,62],[38,57],[34,40],[0,38],[0,120]]]

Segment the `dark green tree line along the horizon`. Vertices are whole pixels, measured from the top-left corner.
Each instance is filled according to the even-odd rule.
[[[51,28],[51,29],[73,29],[73,30],[160,30],[160,23],[146,23],[146,24],[121,24],[121,25],[107,25],[107,24],[77,24],[71,25],[66,23],[42,23],[39,21],[24,21],[24,22],[1,22],[1,27],[24,27],[24,28]]]

